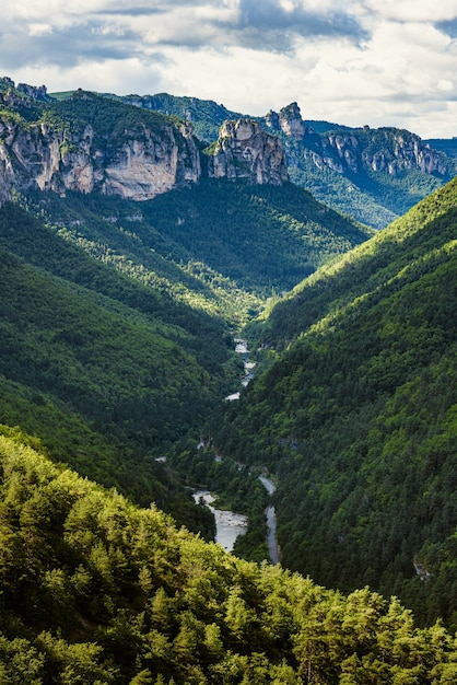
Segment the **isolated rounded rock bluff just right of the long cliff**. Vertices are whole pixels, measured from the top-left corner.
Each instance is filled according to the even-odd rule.
[[[281,141],[249,119],[222,125],[209,175],[246,178],[254,184],[282,185],[289,181]]]

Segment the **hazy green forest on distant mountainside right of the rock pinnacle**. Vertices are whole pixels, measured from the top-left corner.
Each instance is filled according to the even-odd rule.
[[[320,202],[374,229],[384,229],[456,173],[450,155],[436,151],[434,154],[441,155],[440,172],[421,171],[412,154],[413,148],[421,144],[420,139],[395,128],[349,131],[339,127],[321,133],[308,132],[300,141],[279,131],[278,135],[294,183],[309,190]],[[330,139],[343,140],[348,136],[351,164],[340,149],[329,144]],[[400,150],[400,160],[396,160],[399,146],[403,146],[403,151]],[[382,163],[383,169],[374,171],[366,162],[372,159]],[[384,169],[387,164],[395,173]]]

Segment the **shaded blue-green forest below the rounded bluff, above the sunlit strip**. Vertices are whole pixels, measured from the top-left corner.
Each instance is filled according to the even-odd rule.
[[[370,235],[292,184],[207,181],[159,196],[143,211],[162,235],[262,298]]]

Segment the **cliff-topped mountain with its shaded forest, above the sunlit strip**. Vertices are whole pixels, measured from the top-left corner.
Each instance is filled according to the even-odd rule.
[[[187,268],[190,262],[202,263],[200,272],[213,269],[235,287],[263,297],[266,289],[270,293],[290,289],[368,235],[356,222],[290,184],[279,138],[256,121],[223,125],[213,146],[202,149],[176,117],[83,91],[43,102],[34,100],[33,89],[24,94],[10,80],[2,85],[3,199],[50,190],[46,199],[33,200],[35,211],[46,210],[48,220],[65,227],[74,240],[81,234],[78,227],[84,224],[75,213],[86,212],[91,205],[84,244],[98,239],[99,232],[107,248],[113,247],[113,239],[130,242],[129,255],[136,253],[133,262],[141,268],[159,268],[165,275],[172,251],[173,262]],[[83,196],[97,199],[84,202]],[[116,209],[108,199],[114,197],[141,202]],[[152,199],[155,204],[148,201]],[[109,231],[118,220],[127,223],[124,233]],[[77,229],[69,230],[69,223]],[[97,228],[91,233],[94,224]],[[129,239],[131,233],[141,240]],[[169,241],[173,247],[166,246]],[[271,244],[277,244],[274,252]],[[154,248],[154,257],[145,252],[148,247]],[[168,259],[168,267],[157,263],[157,253]],[[214,303],[208,287],[214,279],[209,274],[204,279],[200,295]],[[167,280],[181,282],[181,270]],[[190,289],[196,282],[194,278]]]

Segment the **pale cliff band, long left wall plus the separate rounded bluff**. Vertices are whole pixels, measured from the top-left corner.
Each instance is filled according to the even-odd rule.
[[[13,189],[99,191],[148,200],[197,183],[201,152],[192,124],[176,123],[92,93],[50,102],[46,89],[0,83],[0,202]],[[279,185],[281,142],[247,119],[226,121],[209,175]]]

